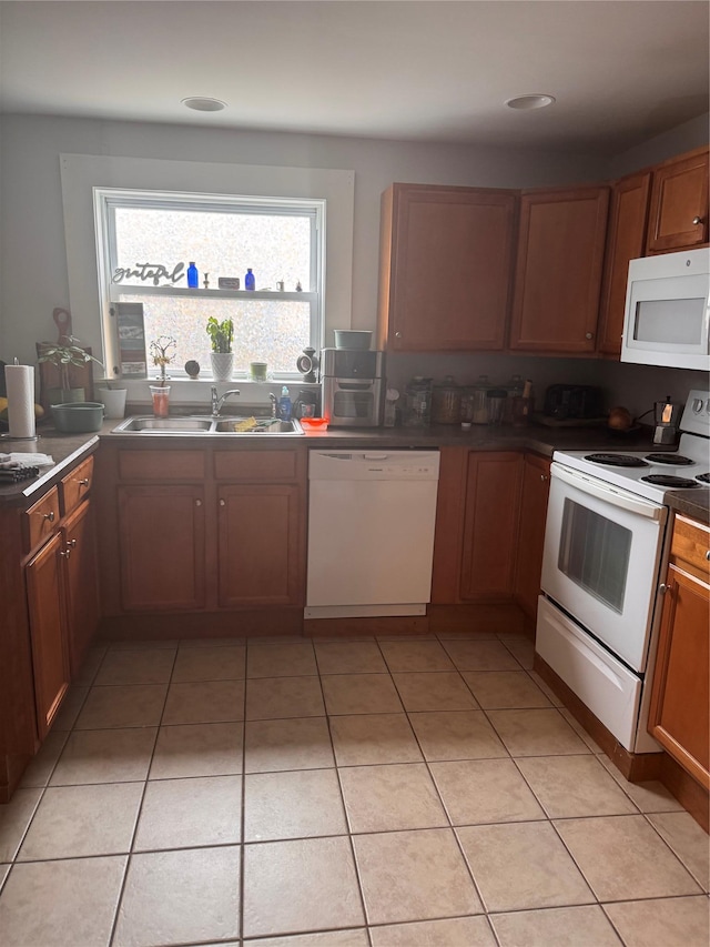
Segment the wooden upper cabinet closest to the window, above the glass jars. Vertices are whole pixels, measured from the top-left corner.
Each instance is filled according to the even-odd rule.
[[[505,345],[517,192],[393,184],[383,194],[378,347]]]

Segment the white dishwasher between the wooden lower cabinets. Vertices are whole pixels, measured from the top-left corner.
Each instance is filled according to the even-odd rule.
[[[423,615],[438,451],[311,451],[306,618]]]

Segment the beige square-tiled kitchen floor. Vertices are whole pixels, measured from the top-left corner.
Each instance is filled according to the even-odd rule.
[[[708,837],[515,635],[93,649],[0,807],[3,947],[707,947]]]

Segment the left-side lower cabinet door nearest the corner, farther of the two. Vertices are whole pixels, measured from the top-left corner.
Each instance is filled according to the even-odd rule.
[[[64,521],[63,531],[69,662],[72,677],[75,677],[99,624],[99,574],[92,504],[82,503]]]

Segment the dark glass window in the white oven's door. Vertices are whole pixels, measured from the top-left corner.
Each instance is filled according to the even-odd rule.
[[[567,497],[557,567],[620,615],[631,538],[630,530]]]

